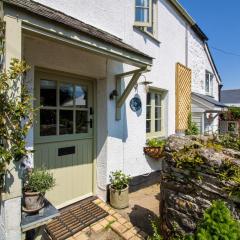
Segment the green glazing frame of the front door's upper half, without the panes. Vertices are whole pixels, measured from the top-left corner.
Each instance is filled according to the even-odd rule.
[[[56,98],[57,98],[57,104],[56,106],[40,106],[40,81],[41,80],[53,80],[56,82],[57,88],[56,88]],[[84,87],[87,87],[88,89],[88,105],[87,107],[77,107],[75,104],[72,107],[66,107],[66,106],[60,106],[60,93],[59,93],[59,87],[61,84],[72,84],[72,85],[81,85]],[[68,140],[76,140],[76,139],[83,139],[87,137],[93,136],[93,128],[90,128],[88,124],[88,132],[87,133],[76,133],[76,111],[87,111],[88,112],[88,121],[93,119],[93,115],[90,114],[90,108],[93,107],[93,82],[92,79],[80,78],[79,76],[71,76],[71,75],[65,75],[61,73],[51,73],[50,71],[46,72],[37,72],[36,78],[35,78],[35,98],[36,101],[34,102],[34,106],[39,109],[37,111],[37,114],[35,116],[35,122],[34,122],[34,135],[35,135],[35,142],[36,143],[45,143],[45,142],[53,142],[53,141],[68,141]],[[74,89],[75,91],[75,89]],[[75,100],[74,100],[75,102]],[[52,109],[56,110],[56,135],[49,135],[49,136],[41,136],[40,135],[40,109]],[[71,134],[59,134],[59,114],[60,110],[72,110],[73,111],[73,133]]]

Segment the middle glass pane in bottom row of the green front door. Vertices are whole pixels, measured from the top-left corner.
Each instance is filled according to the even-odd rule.
[[[73,111],[60,110],[59,113],[59,134],[73,133]]]

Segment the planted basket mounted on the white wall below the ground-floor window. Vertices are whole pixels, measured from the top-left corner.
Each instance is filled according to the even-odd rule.
[[[144,147],[144,153],[151,158],[159,159],[163,156],[164,146],[166,141],[163,139],[149,139],[147,141],[147,146]]]

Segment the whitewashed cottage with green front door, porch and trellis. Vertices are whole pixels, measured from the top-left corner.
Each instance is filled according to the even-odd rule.
[[[27,138],[32,167],[50,169],[58,208],[107,197],[109,174],[161,170],[143,154],[148,138],[218,128],[221,79],[207,37],[176,0],[4,0],[5,67],[31,66],[39,107]],[[2,194],[2,238],[20,239],[21,179]],[[8,184],[8,182],[6,183]],[[11,219],[15,219],[11,221]]]

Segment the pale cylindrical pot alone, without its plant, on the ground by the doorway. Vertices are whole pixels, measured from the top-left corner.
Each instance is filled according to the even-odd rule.
[[[117,209],[127,208],[129,206],[129,187],[122,190],[116,190],[110,185],[110,204]]]

